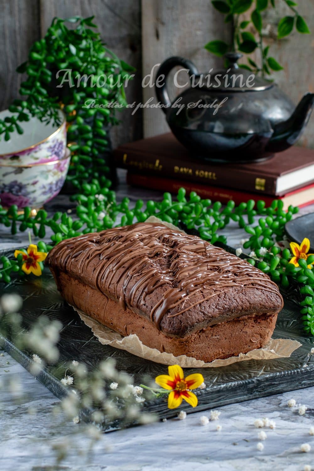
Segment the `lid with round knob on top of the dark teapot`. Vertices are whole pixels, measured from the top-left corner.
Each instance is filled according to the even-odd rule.
[[[237,61],[242,57],[239,52],[225,54],[229,61],[227,69],[210,74],[211,89],[215,91],[262,91],[273,87],[269,80],[258,77],[247,69],[242,69]]]

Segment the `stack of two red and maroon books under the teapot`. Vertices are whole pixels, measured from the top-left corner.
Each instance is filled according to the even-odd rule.
[[[221,203],[262,199],[269,205],[281,199],[285,209],[314,203],[314,150],[304,147],[290,147],[263,162],[214,163],[194,159],[168,133],[119,146],[114,159],[136,187],[173,194],[184,187]]]

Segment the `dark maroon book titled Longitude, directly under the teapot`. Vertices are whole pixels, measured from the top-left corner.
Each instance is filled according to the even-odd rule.
[[[123,144],[117,167],[145,175],[280,196],[314,183],[314,150],[292,146],[263,162],[217,163],[193,158],[172,133]]]

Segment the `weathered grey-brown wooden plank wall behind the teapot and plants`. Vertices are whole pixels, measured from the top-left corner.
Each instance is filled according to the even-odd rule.
[[[289,14],[283,2],[279,6],[280,10],[266,13],[266,40],[272,45],[272,55],[285,68],[274,74],[275,80],[297,103],[306,91],[314,92],[314,35],[294,33],[277,41],[279,18]],[[312,1],[300,2],[298,8],[314,33]],[[45,34],[54,16],[96,16],[108,47],[137,68],[126,90],[129,102],[145,102],[154,96],[153,89],[141,87],[153,65],[178,55],[191,59],[200,71],[208,71],[221,65],[221,60],[204,50],[204,44],[230,38],[230,26],[209,0],[0,0],[0,11],[1,109],[18,95],[21,77],[15,73],[16,66],[26,60],[32,42]],[[112,130],[114,146],[168,129],[161,110],[139,110],[134,115],[131,111],[123,110],[121,124]],[[314,116],[300,144],[314,147]]]

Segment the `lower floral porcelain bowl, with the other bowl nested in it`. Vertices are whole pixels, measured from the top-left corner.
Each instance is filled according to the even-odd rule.
[[[63,158],[28,165],[8,165],[0,162],[0,204],[8,208],[16,204],[19,210],[30,206],[40,209],[63,187],[71,153],[66,149]]]

